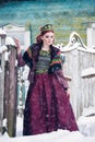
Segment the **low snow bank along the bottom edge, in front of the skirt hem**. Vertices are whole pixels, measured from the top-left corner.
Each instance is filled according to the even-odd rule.
[[[0,138],[1,142],[94,142],[95,138],[87,138],[80,132],[59,130],[38,135],[9,138],[7,134]]]

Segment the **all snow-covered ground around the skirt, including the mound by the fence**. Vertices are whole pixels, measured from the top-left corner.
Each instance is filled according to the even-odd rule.
[[[0,142],[95,142],[95,108],[84,109],[78,119],[80,131],[70,132],[58,130],[56,132],[38,135],[22,135],[23,118],[17,117],[16,138],[10,138],[8,133],[0,137]]]

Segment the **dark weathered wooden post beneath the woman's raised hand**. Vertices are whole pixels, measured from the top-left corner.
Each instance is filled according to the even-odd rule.
[[[9,105],[8,105],[8,133],[10,137],[16,134],[16,104],[17,104],[17,71],[15,67],[16,49],[12,46],[9,56]]]

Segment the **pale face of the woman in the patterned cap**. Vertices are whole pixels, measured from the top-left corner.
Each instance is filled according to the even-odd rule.
[[[50,46],[54,44],[55,34],[52,32],[48,32],[44,36],[41,36],[41,40],[43,40],[44,45]]]

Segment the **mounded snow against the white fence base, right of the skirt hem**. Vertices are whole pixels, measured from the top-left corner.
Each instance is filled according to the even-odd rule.
[[[84,108],[78,123],[80,131],[84,135],[95,137],[95,107]]]

